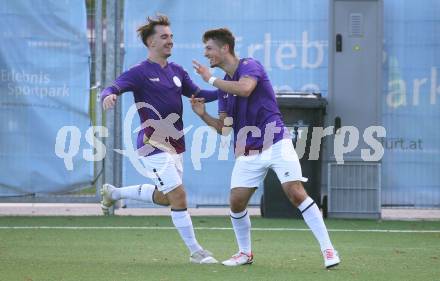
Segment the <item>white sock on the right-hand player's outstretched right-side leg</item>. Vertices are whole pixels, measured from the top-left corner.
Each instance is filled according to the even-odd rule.
[[[316,206],[312,198],[307,197],[299,206],[298,209],[301,211],[304,221],[312,230],[313,235],[315,235],[316,240],[318,240],[321,247],[321,251],[326,249],[333,249],[332,242],[328,236],[327,227],[322,219],[322,214]]]

